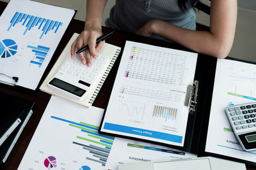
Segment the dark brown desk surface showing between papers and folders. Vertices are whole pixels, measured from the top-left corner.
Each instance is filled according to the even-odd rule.
[[[4,8],[6,7],[7,3],[3,3],[0,1],[0,13],[3,12]],[[72,34],[74,32],[82,32],[84,27],[84,22],[81,22],[79,20],[72,20],[70,23],[70,27],[68,27],[66,33],[64,34],[58,48],[56,49],[56,52],[54,53],[52,60],[49,64],[49,67],[45,71],[45,73],[49,73],[49,68],[51,68],[54,65],[54,62],[58,59],[58,56],[60,56],[61,51],[65,47],[65,45],[68,43],[68,40],[71,38]],[[104,33],[111,31],[111,29],[102,27],[102,31]],[[148,43],[154,43],[155,45],[159,46],[168,46],[168,43],[159,41],[156,39],[151,38],[145,38],[142,36],[130,34],[127,32],[121,32],[116,31],[115,34],[107,40],[108,43],[111,43],[116,46],[124,47],[125,45],[125,39],[134,39],[134,41],[141,41],[141,39],[146,40]],[[170,45],[175,46],[175,45]],[[116,60],[116,63],[120,62],[120,57]],[[115,80],[115,73],[117,72],[118,64],[115,64],[113,68],[111,69],[111,72],[109,73],[108,78],[106,79],[104,85],[102,86],[102,89],[100,90],[97,98],[95,99],[93,106],[97,106],[99,108],[106,108],[108,97],[110,96],[111,87],[113,87],[113,83]],[[44,75],[45,76],[45,75]],[[42,117],[44,110],[47,106],[47,103],[49,102],[49,99],[51,98],[51,95],[46,94],[45,92],[41,92],[38,90],[36,94],[29,94],[26,92],[19,92],[17,90],[13,90],[10,87],[7,86],[1,86],[0,92],[5,92],[7,94],[12,94],[13,96],[19,96],[23,97],[25,99],[29,99],[31,101],[35,101],[36,105],[33,109],[33,115],[31,116],[28,124],[26,125],[24,131],[20,135],[19,140],[17,141],[16,145],[14,146],[12,152],[10,153],[10,156],[8,157],[6,163],[1,166],[1,169],[17,169],[19,167],[20,161],[26,152],[26,148],[29,145],[29,142],[36,130],[36,127],[38,123],[40,122],[40,118]],[[247,169],[256,169],[256,167],[250,167],[246,166]]]

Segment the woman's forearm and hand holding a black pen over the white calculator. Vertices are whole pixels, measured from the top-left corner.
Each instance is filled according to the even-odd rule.
[[[79,57],[83,64],[92,65],[92,57],[96,58],[105,41],[100,41],[97,46],[96,39],[102,35],[101,22],[102,13],[108,0],[87,0],[86,4],[86,20],[84,31],[77,37],[76,41],[71,46],[71,57],[75,57],[75,51],[85,45],[89,46],[89,50],[79,53]]]

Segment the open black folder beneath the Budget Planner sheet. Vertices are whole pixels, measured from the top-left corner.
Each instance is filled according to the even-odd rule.
[[[134,39],[131,39],[131,41],[134,41]],[[140,43],[154,45],[152,43],[148,43],[145,41],[142,41],[142,42],[140,41]],[[191,52],[191,50],[188,50],[177,44],[166,43],[161,46]],[[122,55],[119,57],[116,63],[118,64],[120,63],[121,57]],[[226,59],[237,60],[231,57],[227,57]],[[243,60],[239,60],[239,61],[247,62]],[[248,62],[248,63],[252,63],[252,62]],[[221,157],[223,159],[235,160],[237,162],[243,162],[246,164],[256,166],[255,162],[250,162],[247,160],[241,160],[234,157],[227,157],[225,155],[218,155],[215,153],[205,152],[205,143],[207,139],[209,115],[211,112],[211,102],[212,102],[212,93],[214,88],[216,64],[217,64],[217,59],[215,57],[198,53],[198,59],[196,62],[196,70],[195,70],[195,78],[194,78],[194,83],[191,87],[191,95],[189,100],[190,101],[189,113],[188,113],[189,115],[188,115],[188,124],[186,127],[186,136],[184,140],[184,146],[181,147],[181,146],[175,146],[175,145],[166,145],[164,143],[157,143],[156,141],[148,141],[145,139],[132,138],[128,136],[122,136],[119,134],[113,134],[113,133],[101,131],[103,120],[106,115],[106,110],[104,112],[102,121],[100,123],[99,133],[105,134],[105,135],[117,136],[121,138],[135,139],[138,141],[154,143],[157,145],[164,145],[172,148],[177,148],[179,150],[184,150],[186,152],[195,153],[198,156],[210,155],[214,157]]]

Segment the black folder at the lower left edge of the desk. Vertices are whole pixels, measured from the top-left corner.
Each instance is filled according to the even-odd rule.
[[[0,128],[1,132],[6,132],[10,126],[19,118],[20,124],[8,134],[8,138],[0,146],[0,164],[4,163],[10,151],[15,145],[20,133],[33,113],[32,108],[35,102],[0,93]]]

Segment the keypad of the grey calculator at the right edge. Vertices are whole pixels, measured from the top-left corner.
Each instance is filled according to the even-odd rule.
[[[256,131],[256,104],[238,105],[228,108],[227,111],[230,123],[237,132],[244,129]]]

